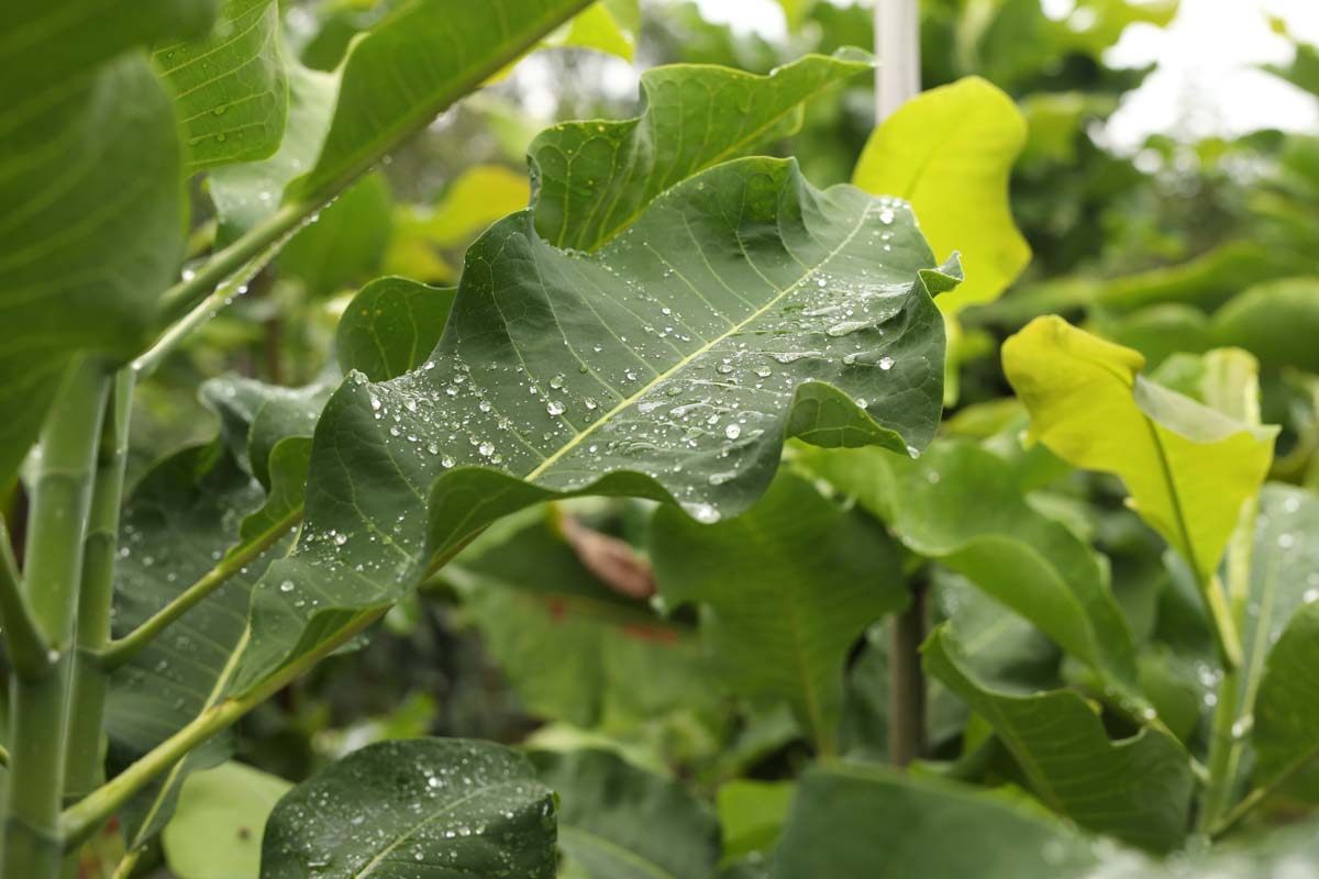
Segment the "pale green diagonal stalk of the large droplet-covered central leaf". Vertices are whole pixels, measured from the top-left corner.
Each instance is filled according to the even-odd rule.
[[[96,828],[119,810],[131,796],[141,791],[157,775],[169,771],[189,751],[226,729],[249,710],[301,677],[322,659],[351,640],[357,633],[385,615],[386,608],[364,610],[327,640],[317,644],[294,662],[280,668],[257,687],[237,697],[226,698],[198,714],[187,726],[148,751],[141,759],[117,776],[96,788],[80,803],[65,810],[61,818],[65,843],[78,845],[96,832]],[[36,878],[34,878],[36,879]]]

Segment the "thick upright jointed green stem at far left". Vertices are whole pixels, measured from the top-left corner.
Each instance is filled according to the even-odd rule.
[[[57,879],[78,588],[96,440],[109,382],[99,364],[70,369],[41,435],[24,592],[57,659],[51,673],[11,681],[9,804],[4,875]]]

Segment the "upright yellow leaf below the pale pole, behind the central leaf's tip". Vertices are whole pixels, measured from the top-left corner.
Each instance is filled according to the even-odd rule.
[[[852,182],[911,203],[938,253],[962,253],[967,281],[939,299],[944,314],[992,302],[1030,262],[1012,219],[1008,177],[1026,120],[979,76],[922,92],[874,129]]]

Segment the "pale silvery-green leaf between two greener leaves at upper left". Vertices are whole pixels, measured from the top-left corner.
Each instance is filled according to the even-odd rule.
[[[290,181],[306,173],[321,153],[339,78],[288,62],[289,116],[280,149],[262,162],[227,165],[211,171],[208,187],[219,228],[215,242],[224,246],[274,213]]]

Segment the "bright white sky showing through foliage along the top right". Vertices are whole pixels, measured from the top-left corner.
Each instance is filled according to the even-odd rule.
[[[774,0],[696,1],[711,21],[772,40],[785,33]],[[1054,16],[1067,14],[1072,4],[1045,0]],[[1182,0],[1169,28],[1128,28],[1108,61],[1119,66],[1157,61],[1159,66],[1109,121],[1109,144],[1132,150],[1155,132],[1188,138],[1258,128],[1319,133],[1319,101],[1254,69],[1291,58],[1290,43],[1269,29],[1269,16],[1286,21],[1299,40],[1319,43],[1319,0]]]

